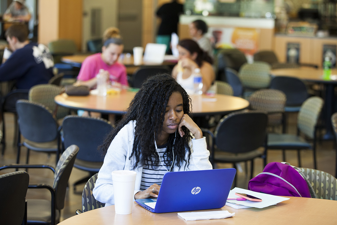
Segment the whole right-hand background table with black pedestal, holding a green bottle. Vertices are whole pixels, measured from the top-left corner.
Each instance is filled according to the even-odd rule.
[[[331,80],[323,79],[323,69],[315,69],[313,67],[300,67],[296,69],[275,69],[271,71],[274,76],[291,76],[297,77],[301,80],[311,81],[315,83],[323,83],[325,87],[325,127],[326,134],[323,136],[324,140],[334,140],[335,135],[332,131],[331,116],[335,112],[335,92],[334,88],[337,86],[337,70],[332,70]]]

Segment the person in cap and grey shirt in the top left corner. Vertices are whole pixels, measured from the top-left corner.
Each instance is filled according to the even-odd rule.
[[[25,5],[25,0],[14,0],[5,11],[2,19],[4,21],[28,22],[31,14]]]

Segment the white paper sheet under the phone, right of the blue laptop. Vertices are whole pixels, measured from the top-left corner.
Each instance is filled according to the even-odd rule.
[[[238,196],[235,193],[243,193],[247,195],[252,195],[257,198],[261,198],[262,202],[254,202],[254,201],[249,201],[249,200],[246,200],[246,201],[227,200],[227,202],[237,203],[237,204],[246,205],[246,206],[252,206],[255,208],[264,208],[264,207],[271,206],[271,205],[274,205],[274,204],[277,204],[279,202],[289,199],[289,198],[284,198],[284,197],[275,196],[275,195],[268,195],[264,193],[253,192],[253,191],[249,191],[249,190],[242,189],[242,188],[234,188],[233,190],[229,191],[228,198],[237,198]]]

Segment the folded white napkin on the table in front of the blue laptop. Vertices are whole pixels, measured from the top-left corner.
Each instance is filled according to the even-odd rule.
[[[210,220],[210,219],[224,219],[235,216],[235,213],[229,213],[227,210],[207,211],[207,212],[192,212],[192,213],[178,213],[186,221],[189,220]]]

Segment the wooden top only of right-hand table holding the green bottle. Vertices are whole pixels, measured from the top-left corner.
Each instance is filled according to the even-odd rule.
[[[271,70],[274,76],[291,76],[301,80],[319,82],[319,83],[337,83],[337,69],[331,72],[331,80],[323,80],[323,69],[313,67],[300,67],[295,69],[275,69]]]

